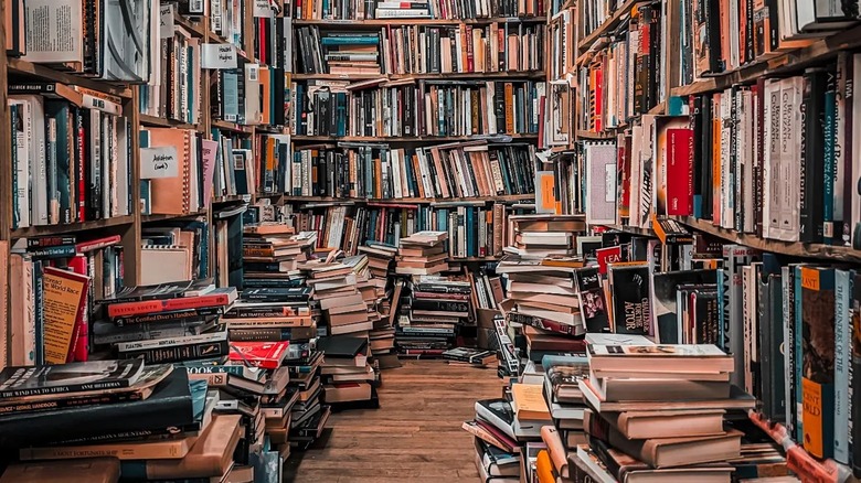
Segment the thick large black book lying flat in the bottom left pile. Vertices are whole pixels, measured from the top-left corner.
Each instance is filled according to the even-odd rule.
[[[24,448],[127,431],[150,432],[194,423],[184,371],[173,371],[147,399],[0,418],[0,448]]]

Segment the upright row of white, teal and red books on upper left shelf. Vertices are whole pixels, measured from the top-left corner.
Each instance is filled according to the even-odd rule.
[[[9,86],[13,228],[131,214],[131,125],[114,96]]]

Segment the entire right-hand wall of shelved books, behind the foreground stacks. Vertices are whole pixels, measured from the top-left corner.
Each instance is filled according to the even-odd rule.
[[[610,330],[734,354],[733,383],[759,401],[751,420],[790,449],[802,481],[844,481],[859,468],[847,430],[861,260],[861,30],[850,3],[825,13],[805,0],[586,0],[550,2],[548,13],[538,169],[553,173],[555,212],[583,216],[583,243],[597,244]],[[543,336],[525,329],[531,342]],[[614,400],[603,393],[613,375],[595,379],[595,397]],[[564,398],[552,399],[556,420]],[[635,453],[598,426],[568,457],[613,473],[614,451]]]

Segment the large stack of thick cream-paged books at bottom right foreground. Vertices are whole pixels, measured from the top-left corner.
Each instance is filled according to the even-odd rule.
[[[756,406],[730,384],[732,355],[706,344],[593,344],[588,361],[580,382],[588,444],[572,454],[576,477],[730,481],[742,432],[726,429],[725,414]]]

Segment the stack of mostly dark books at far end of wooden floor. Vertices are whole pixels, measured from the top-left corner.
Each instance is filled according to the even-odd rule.
[[[454,346],[458,328],[470,316],[470,283],[442,276],[413,276],[404,289],[395,332],[398,353],[442,356]]]

